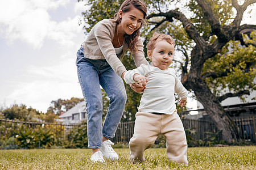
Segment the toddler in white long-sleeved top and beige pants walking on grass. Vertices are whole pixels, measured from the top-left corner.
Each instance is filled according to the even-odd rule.
[[[174,56],[174,39],[170,35],[154,33],[147,45],[151,65],[141,65],[126,71],[126,83],[146,85],[136,113],[133,137],[130,139],[130,162],[144,162],[144,150],[154,145],[159,134],[166,138],[167,158],[188,164],[187,140],[175,105],[176,92],[183,107],[188,92],[169,66]]]

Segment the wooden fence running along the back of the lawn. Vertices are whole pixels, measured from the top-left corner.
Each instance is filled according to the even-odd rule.
[[[248,142],[256,143],[255,133],[255,117],[250,118],[235,118],[234,123],[238,127],[238,133],[242,139]],[[213,122],[201,121],[201,120],[182,120],[184,129],[195,130],[195,134],[191,134],[191,137],[197,141],[199,139],[204,140],[207,137],[206,132],[216,133],[218,130]],[[67,139],[67,135],[72,128],[78,128],[79,125],[64,125],[64,124],[53,124],[46,122],[24,122],[24,121],[13,121],[0,119],[0,139],[9,138],[15,134],[19,129],[24,127],[35,129],[35,128],[46,128],[51,130],[54,137],[59,139]],[[115,137],[112,139],[114,143],[128,143],[130,138],[133,136],[134,121],[121,122],[118,125]]]

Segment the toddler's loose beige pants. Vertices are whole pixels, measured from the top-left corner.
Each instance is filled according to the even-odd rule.
[[[159,134],[166,138],[168,160],[188,164],[187,140],[179,115],[152,114],[138,112],[136,114],[133,137],[130,139],[130,162],[144,162],[144,150],[154,145]]]

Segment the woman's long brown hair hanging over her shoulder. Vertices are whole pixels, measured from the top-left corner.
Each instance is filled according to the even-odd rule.
[[[144,17],[141,26],[136,31],[134,31],[131,35],[125,34],[125,42],[129,45],[129,49],[131,50],[131,52],[137,52],[137,43],[140,35],[139,29],[141,29],[143,23],[146,22],[147,7],[140,0],[126,0],[122,3],[118,11],[122,10],[122,12],[129,12],[133,7],[142,11]],[[118,12],[114,15],[114,20],[117,24],[121,23],[121,18],[118,17]]]

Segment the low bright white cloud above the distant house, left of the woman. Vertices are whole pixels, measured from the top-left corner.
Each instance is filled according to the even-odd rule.
[[[26,104],[46,112],[52,100],[82,97],[74,59],[67,59],[53,67],[30,66],[32,81],[17,82],[6,104]],[[11,101],[15,99],[15,101]]]

